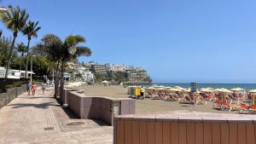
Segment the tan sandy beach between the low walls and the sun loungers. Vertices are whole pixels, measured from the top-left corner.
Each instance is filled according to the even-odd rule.
[[[102,85],[86,85],[75,87],[73,89],[84,90],[85,95],[90,96],[110,96],[115,98],[129,97],[127,95],[127,88],[124,88],[120,85],[112,85],[109,87],[104,87]],[[162,100],[136,100],[136,113],[151,113],[151,112],[165,112],[165,111],[174,111],[174,110],[191,110],[199,112],[226,112],[215,110],[212,107],[212,102],[208,102],[207,105],[198,105],[193,106],[189,104],[180,104],[177,101],[162,101]],[[232,113],[238,113],[233,111]]]

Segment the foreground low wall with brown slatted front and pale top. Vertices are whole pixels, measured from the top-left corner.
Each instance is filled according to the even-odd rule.
[[[114,144],[255,144],[256,115],[165,112],[114,118]]]

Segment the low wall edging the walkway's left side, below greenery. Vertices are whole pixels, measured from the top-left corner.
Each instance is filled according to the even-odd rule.
[[[0,108],[9,104],[10,101],[14,100],[17,96],[26,92],[26,85],[21,87],[16,87],[12,89],[7,89],[6,93],[0,94]]]

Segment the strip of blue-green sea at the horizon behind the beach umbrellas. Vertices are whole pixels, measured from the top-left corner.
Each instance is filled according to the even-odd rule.
[[[154,83],[154,84],[143,84],[145,87],[149,87],[152,85],[163,85],[163,86],[180,86],[183,88],[189,88],[190,84],[178,84],[178,83]],[[197,84],[197,88],[212,88],[212,89],[233,89],[233,88],[241,88],[241,89],[256,89],[256,84]]]

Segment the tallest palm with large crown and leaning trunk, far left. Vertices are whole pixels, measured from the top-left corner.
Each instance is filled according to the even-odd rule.
[[[16,37],[18,35],[18,32],[20,32],[26,25],[26,20],[28,19],[28,17],[29,14],[26,14],[26,10],[20,9],[19,7],[16,7],[14,9],[12,6],[9,6],[7,10],[0,13],[0,20],[2,20],[5,26],[7,26],[7,28],[13,32],[14,36],[13,42],[9,49],[9,57],[7,61],[4,79],[8,78],[9,65],[12,59]]]

